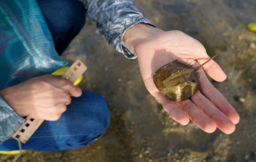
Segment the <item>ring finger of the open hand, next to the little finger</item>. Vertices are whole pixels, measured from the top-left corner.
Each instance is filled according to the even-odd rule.
[[[202,130],[212,133],[216,130],[216,124],[207,115],[202,113],[189,99],[176,101],[176,104],[190,117],[190,119]]]

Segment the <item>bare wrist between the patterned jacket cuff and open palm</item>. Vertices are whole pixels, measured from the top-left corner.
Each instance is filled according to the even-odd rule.
[[[135,51],[136,46],[146,38],[164,32],[150,24],[139,23],[129,28],[123,37],[123,41],[132,51]]]

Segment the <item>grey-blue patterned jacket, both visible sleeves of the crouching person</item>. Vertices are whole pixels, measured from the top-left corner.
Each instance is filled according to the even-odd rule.
[[[88,18],[97,23],[97,28],[100,31],[100,34],[106,38],[110,46],[116,49],[116,51],[123,53],[125,57],[135,59],[136,55],[122,41],[124,33],[128,28],[135,24],[140,22],[151,24],[151,22],[143,17],[138,9],[134,7],[132,1],[80,1],[86,8]],[[0,144],[10,138],[10,136],[22,125],[24,120],[25,119],[17,115],[0,96]]]

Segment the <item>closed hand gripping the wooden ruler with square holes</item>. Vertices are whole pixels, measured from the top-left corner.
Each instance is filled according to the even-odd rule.
[[[0,91],[0,95],[21,117],[56,121],[82,90],[65,79],[53,75],[34,77]]]

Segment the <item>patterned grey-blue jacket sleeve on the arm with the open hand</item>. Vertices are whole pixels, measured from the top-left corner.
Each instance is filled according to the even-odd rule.
[[[124,33],[130,27],[144,22],[144,18],[134,7],[131,0],[80,0],[83,2],[87,16],[97,23],[100,34],[106,38],[111,47],[123,53],[129,59],[135,59],[135,53],[122,41]],[[152,25],[152,24],[151,24]]]

